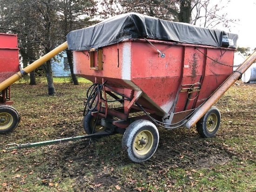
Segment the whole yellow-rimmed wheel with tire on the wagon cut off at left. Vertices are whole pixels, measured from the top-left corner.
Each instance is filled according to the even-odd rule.
[[[12,132],[20,122],[20,115],[11,106],[0,106],[0,133]]]

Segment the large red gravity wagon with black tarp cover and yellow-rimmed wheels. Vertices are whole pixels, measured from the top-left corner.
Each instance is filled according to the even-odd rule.
[[[71,31],[67,44],[74,51],[74,73],[94,82],[87,92],[85,131],[124,134],[128,158],[148,160],[158,146],[157,127],[191,128],[189,119],[233,72],[237,39],[136,13]],[[113,102],[119,106],[110,107]],[[212,107],[196,129],[212,137],[220,122]]]

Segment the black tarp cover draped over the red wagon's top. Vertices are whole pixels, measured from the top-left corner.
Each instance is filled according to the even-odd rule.
[[[135,38],[236,48],[238,35],[186,23],[160,20],[138,13],[126,13],[93,26],[71,31],[67,34],[67,44],[70,50],[89,50]]]

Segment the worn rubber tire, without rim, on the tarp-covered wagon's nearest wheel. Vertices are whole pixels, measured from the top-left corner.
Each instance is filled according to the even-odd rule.
[[[150,131],[153,135],[153,145],[151,149],[143,155],[138,154],[135,149],[136,136],[142,131]],[[158,142],[159,133],[156,126],[151,121],[140,119],[131,123],[124,132],[122,138],[122,150],[127,154],[131,161],[141,163],[147,161],[154,155]]]

